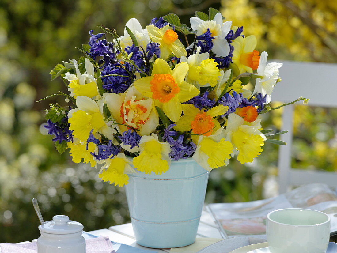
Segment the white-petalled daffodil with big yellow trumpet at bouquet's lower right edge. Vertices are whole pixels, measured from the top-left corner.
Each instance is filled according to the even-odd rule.
[[[263,149],[266,137],[258,130],[261,128],[261,119],[250,123],[234,113],[228,115],[225,130],[226,140],[231,141],[234,154],[238,154],[240,163],[252,162]]]

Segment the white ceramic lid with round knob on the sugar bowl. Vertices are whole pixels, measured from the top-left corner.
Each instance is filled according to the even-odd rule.
[[[39,225],[39,230],[49,234],[72,234],[83,230],[83,225],[70,221],[68,216],[55,215],[52,221]]]

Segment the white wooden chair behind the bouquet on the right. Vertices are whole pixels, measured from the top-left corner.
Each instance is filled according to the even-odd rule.
[[[337,107],[337,64],[284,60],[271,60],[270,62],[283,63],[279,74],[282,82],[275,86],[272,93],[273,101],[287,103],[302,96],[310,99],[308,105],[311,106]],[[288,133],[280,136],[287,145],[279,147],[279,193],[286,192],[289,186],[315,182],[336,187],[337,173],[291,167],[293,112],[294,105],[283,107],[281,131],[288,130]]]

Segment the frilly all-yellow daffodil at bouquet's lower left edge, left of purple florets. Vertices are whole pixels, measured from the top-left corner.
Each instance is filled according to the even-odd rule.
[[[80,142],[79,139],[74,138],[74,141],[69,141],[68,148],[70,148],[70,156],[72,157],[72,161],[74,163],[80,163],[83,159],[84,163],[89,163],[91,167],[96,165],[96,161],[94,157],[90,154],[90,152],[95,152],[96,145],[92,142],[88,143],[88,150],[86,150],[86,144]]]

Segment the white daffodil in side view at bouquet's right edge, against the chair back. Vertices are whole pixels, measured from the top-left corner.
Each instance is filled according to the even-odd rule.
[[[267,52],[261,53],[257,74],[263,76],[263,78],[256,78],[253,92],[253,94],[261,93],[263,97],[267,94],[266,104],[271,101],[271,94],[278,79],[278,69],[283,65],[277,62],[267,64],[267,57]]]

